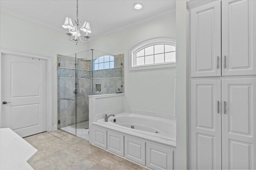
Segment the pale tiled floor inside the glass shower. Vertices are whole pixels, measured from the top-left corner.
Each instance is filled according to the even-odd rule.
[[[67,127],[60,128],[63,131],[66,131],[71,134],[76,134],[77,137],[89,141],[89,121],[82,121]]]

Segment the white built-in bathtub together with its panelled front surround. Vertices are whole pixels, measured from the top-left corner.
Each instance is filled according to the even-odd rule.
[[[116,121],[114,121],[114,119]],[[142,119],[144,119],[144,121],[142,121]],[[150,123],[150,119],[152,119],[152,121],[155,119],[155,123],[151,123],[151,125],[154,126],[151,127],[153,129],[156,128],[159,133],[155,133],[155,131],[150,132],[151,127],[148,128],[149,126],[146,124],[144,127],[140,127],[139,130],[136,129],[142,122]],[[136,121],[139,121],[140,123],[138,124]],[[160,123],[160,121],[162,121],[162,123]],[[167,122],[170,123],[170,125],[165,125]],[[176,134],[176,129],[172,128],[171,124],[175,124],[176,127],[176,123],[171,120],[133,113],[120,113],[115,117],[110,117],[108,122],[105,122],[104,119],[100,119],[92,123],[92,138],[90,139],[92,139],[91,141],[93,145],[105,148],[109,152],[114,152],[120,155],[120,157],[123,156],[122,149],[124,149],[125,158],[142,166],[146,166],[147,168],[173,169],[176,153],[176,139],[171,137],[171,133],[167,134],[167,131],[164,132],[164,128],[168,126]],[[130,125],[134,125],[134,129],[132,129]],[[142,123],[142,125],[144,124]],[[101,131],[101,137],[104,137],[103,134],[105,132],[108,134],[106,137],[107,148],[105,145],[102,145],[104,139],[100,138],[102,141],[101,143],[94,141],[97,138],[94,131]],[[173,136],[176,138],[175,134]],[[111,140],[111,138],[114,140]],[[113,149],[111,146],[118,147]]]

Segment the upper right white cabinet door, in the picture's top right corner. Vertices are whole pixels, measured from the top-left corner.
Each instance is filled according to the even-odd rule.
[[[222,75],[256,74],[256,1],[222,1]]]

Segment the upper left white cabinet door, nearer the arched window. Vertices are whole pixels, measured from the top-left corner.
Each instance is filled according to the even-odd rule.
[[[191,76],[221,76],[221,2],[191,10]]]

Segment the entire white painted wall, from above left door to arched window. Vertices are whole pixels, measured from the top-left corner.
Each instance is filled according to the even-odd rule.
[[[176,15],[172,14],[129,29],[100,37],[88,44],[74,45],[65,33],[0,14],[0,48],[52,57],[53,125],[57,124],[56,54],[68,55],[90,48],[111,54],[124,53],[124,107],[173,113],[176,68],[128,70],[128,51],[136,44],[155,37],[176,37]]]

